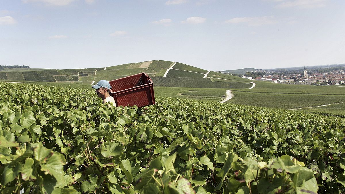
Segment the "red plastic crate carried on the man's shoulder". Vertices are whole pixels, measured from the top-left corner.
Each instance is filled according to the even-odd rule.
[[[153,82],[146,73],[115,79],[109,84],[116,106],[137,105],[140,108],[156,103]]]

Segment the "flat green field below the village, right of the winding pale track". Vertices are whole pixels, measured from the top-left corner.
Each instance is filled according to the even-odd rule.
[[[345,87],[275,84],[256,81],[253,89],[233,89],[228,103],[271,108],[301,108],[345,101]],[[343,104],[303,110],[345,114]]]

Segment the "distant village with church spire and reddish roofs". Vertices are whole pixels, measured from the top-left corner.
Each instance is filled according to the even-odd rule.
[[[258,77],[249,77],[250,75]],[[303,72],[276,72],[268,70],[255,70],[247,72],[242,75],[241,78],[250,80],[262,80],[271,81],[274,83],[285,83],[285,84],[305,84],[305,85],[345,85],[345,72],[344,69],[329,71],[329,72],[318,72],[317,70],[306,70]]]

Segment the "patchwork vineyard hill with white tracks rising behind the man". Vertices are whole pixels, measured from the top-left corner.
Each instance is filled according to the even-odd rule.
[[[0,71],[0,80],[38,82],[79,82],[92,84],[146,72],[156,86],[197,88],[249,88],[248,80],[207,71],[180,62],[153,60],[103,68]]]

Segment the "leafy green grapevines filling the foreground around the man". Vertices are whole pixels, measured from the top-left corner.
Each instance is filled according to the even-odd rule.
[[[344,193],[345,119],[0,82],[0,193]]]

